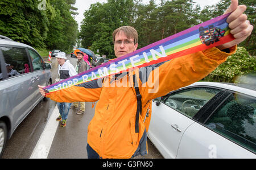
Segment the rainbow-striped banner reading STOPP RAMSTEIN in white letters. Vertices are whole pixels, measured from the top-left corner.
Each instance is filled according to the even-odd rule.
[[[128,69],[146,67],[230,42],[234,38],[229,32],[228,23],[226,23],[228,16],[229,14],[221,15],[188,28],[108,63],[49,85],[44,90],[47,93],[56,92],[73,85],[125,72]]]

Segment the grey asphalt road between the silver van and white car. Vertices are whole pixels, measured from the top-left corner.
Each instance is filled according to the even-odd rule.
[[[76,59],[68,59],[75,66]],[[46,59],[47,61],[47,59]],[[56,77],[57,61],[52,58],[52,78]],[[51,115],[55,110],[56,102],[48,99],[40,101],[31,113],[16,128],[13,136],[7,142],[3,158],[30,158],[40,140],[42,134],[46,131],[46,126],[51,121]],[[94,107],[91,102],[85,102],[85,113],[76,114],[76,110],[70,110],[66,127],[56,126],[56,132],[52,135],[52,142],[49,145],[47,157],[45,158],[87,158],[87,127],[94,115]],[[54,118],[55,119],[55,118]],[[53,123],[56,123],[54,120]],[[48,127],[48,126],[47,126]],[[49,134],[48,134],[49,135]],[[47,136],[47,138],[49,138]],[[137,156],[135,158],[163,158],[156,150],[154,145],[148,139],[148,152],[146,156]]]

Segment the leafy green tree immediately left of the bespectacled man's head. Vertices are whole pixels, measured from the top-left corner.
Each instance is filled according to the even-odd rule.
[[[84,48],[96,51],[101,55],[113,58],[112,32],[120,27],[129,25],[133,21],[134,3],[132,0],[108,0],[107,3],[94,3],[84,13],[80,38]]]

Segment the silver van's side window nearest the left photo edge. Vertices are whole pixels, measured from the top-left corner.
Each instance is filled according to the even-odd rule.
[[[26,49],[16,47],[0,47],[5,58],[8,77],[18,76],[31,71]]]

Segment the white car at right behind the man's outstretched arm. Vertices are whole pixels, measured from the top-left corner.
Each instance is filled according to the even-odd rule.
[[[256,91],[196,82],[152,102],[148,138],[164,158],[256,158]]]

